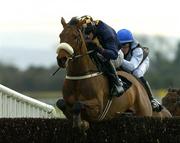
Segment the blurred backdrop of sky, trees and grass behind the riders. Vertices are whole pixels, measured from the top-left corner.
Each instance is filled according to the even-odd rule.
[[[178,0],[0,0],[0,84],[43,102],[61,96],[65,70],[51,74],[61,17],[91,15],[116,31],[126,28],[150,49],[146,78],[160,100],[180,87]]]

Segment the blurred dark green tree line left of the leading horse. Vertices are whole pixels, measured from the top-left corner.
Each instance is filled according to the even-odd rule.
[[[12,65],[0,64],[0,83],[17,91],[57,91],[62,88],[65,71],[55,76],[52,73],[57,66],[50,68],[29,67],[25,71]]]

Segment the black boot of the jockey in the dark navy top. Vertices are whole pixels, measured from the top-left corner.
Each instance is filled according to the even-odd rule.
[[[106,61],[104,64],[106,67],[106,74],[108,75],[110,82],[110,94],[111,96],[119,97],[124,93],[123,82],[118,77],[116,69],[110,61]]]

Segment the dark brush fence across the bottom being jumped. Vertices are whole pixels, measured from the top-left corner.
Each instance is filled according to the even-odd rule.
[[[87,137],[64,119],[0,119],[3,143],[179,143],[180,118],[119,117],[91,122]]]

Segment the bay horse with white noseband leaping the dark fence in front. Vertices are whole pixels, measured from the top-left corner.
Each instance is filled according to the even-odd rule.
[[[63,30],[59,35],[57,59],[67,75],[63,84],[63,99],[58,100],[57,105],[68,119],[73,120],[73,126],[88,127],[86,121],[110,120],[128,109],[136,116],[152,116],[146,90],[129,73],[118,71],[118,75],[132,84],[120,97],[110,98],[108,78],[91,59],[94,52],[86,47],[82,23],[72,23],[61,19]]]

